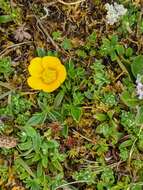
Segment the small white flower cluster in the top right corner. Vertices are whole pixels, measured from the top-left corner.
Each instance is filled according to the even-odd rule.
[[[121,16],[125,15],[127,12],[127,9],[124,8],[123,5],[114,3],[114,4],[105,4],[105,8],[107,10],[107,23],[110,25],[113,25],[114,23],[118,22]]]

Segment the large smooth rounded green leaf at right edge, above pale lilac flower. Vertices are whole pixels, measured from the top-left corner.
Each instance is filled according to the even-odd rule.
[[[138,55],[134,58],[131,70],[134,77],[137,77],[137,74],[143,75],[143,55]]]

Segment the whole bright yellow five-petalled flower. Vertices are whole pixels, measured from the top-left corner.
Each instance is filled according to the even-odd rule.
[[[66,69],[57,57],[35,57],[28,67],[28,85],[35,90],[53,92],[66,78]]]

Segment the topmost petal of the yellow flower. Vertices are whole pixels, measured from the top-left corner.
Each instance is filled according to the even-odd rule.
[[[59,65],[61,65],[61,61],[57,57],[45,56],[42,58],[42,66],[45,69],[48,67],[56,69]]]

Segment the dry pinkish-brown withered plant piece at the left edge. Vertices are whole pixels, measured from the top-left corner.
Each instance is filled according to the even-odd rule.
[[[17,140],[13,137],[0,136],[0,148],[13,148],[17,145]]]

